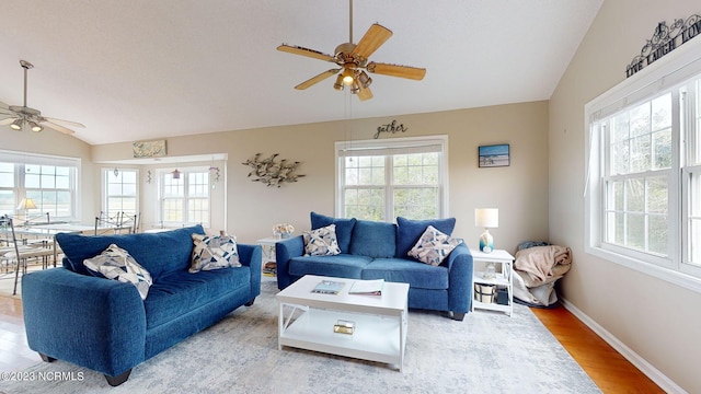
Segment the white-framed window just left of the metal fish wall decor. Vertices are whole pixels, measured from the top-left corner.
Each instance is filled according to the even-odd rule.
[[[209,172],[183,169],[180,177],[161,175],[161,218],[163,225],[202,223],[209,227]]]

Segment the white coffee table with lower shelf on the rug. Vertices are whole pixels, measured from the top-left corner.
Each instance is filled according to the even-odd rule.
[[[324,279],[346,285],[338,294],[312,292]],[[278,349],[290,346],[387,362],[402,372],[409,283],[386,282],[382,296],[348,294],[355,280],[307,275],[277,293]],[[338,320],[355,322],[354,333],[334,333]]]

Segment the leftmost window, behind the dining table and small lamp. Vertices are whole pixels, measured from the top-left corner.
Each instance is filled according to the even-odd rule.
[[[77,220],[79,166],[79,159],[0,151],[0,215]],[[18,210],[23,198],[32,198],[36,208]]]

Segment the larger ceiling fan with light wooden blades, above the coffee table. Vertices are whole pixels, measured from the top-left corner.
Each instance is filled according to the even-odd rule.
[[[417,81],[424,79],[424,76],[426,74],[426,69],[424,68],[379,63],[375,61],[368,62],[370,55],[372,55],[392,36],[392,31],[375,23],[365,33],[363,38],[360,38],[358,44],[353,44],[353,0],[349,0],[349,14],[350,39],[348,43],[338,45],[333,56],[314,49],[287,44],[283,44],[277,47],[277,50],[325,60],[340,66],[340,68],[333,68],[310,78],[295,86],[295,89],[304,90],[329,77],[337,74],[336,82],[333,85],[335,90],[341,91],[344,86],[350,86],[350,93],[357,94],[360,101],[365,101],[372,99],[372,92],[369,88],[372,83],[372,79],[365,71],[389,77],[407,78]]]

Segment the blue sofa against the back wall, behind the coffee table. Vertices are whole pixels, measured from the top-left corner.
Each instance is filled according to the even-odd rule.
[[[304,275],[405,282],[409,308],[446,312],[462,321],[472,302],[472,254],[464,243],[439,266],[407,256],[430,224],[452,233],[456,220],[409,220],[397,223],[332,218],[311,212],[311,229],[335,224],[341,254],[304,256],[301,235],[276,243],[277,287],[281,290]]]

